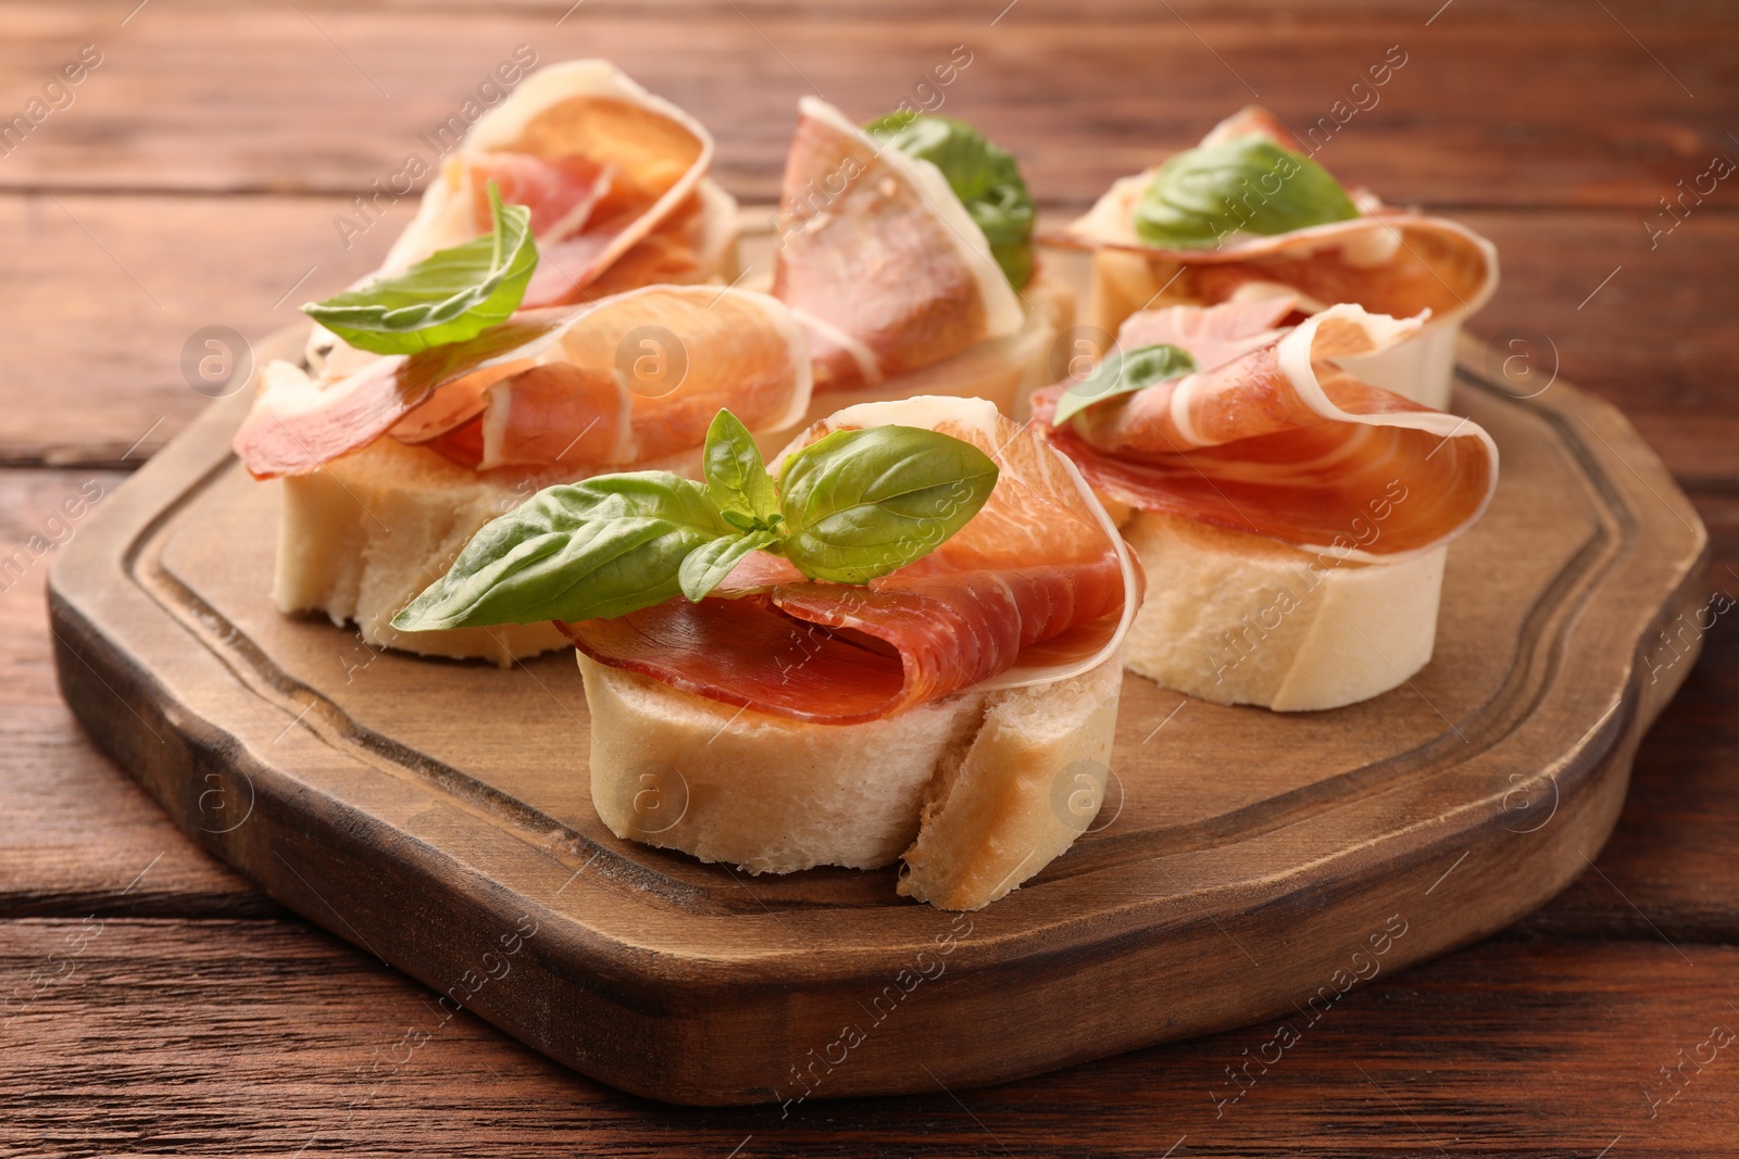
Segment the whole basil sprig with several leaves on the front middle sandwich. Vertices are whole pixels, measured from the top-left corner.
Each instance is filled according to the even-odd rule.
[[[817,580],[868,584],[936,551],[977,514],[996,464],[922,427],[835,431],[767,474],[729,410],[706,433],[704,483],[670,471],[546,487],[483,525],[393,627],[433,631],[628,615],[704,599],[751,551]]]

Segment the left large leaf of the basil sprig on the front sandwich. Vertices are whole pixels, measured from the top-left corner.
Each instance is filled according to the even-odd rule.
[[[730,533],[701,485],[668,471],[546,487],[483,525],[393,627],[628,615],[675,596],[683,558]]]

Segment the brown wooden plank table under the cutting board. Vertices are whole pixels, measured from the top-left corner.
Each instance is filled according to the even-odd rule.
[[[372,268],[410,200],[348,248],[334,219],[363,222],[351,198],[426,155],[419,134],[516,45],[610,56],[692,109],[744,202],[772,196],[809,90],[854,116],[941,96],[1056,207],[1247,101],[1299,127],[1344,118],[1320,160],[1497,242],[1504,285],[1473,330],[1624,407],[1708,521],[1713,586],[1739,594],[1739,193],[1720,181],[1676,217],[1659,202],[1716,155],[1739,160],[1727,5],[132,3],[0,3],[7,118],[94,45],[80,83],[50,92],[64,108],[0,156],[0,560],[23,561],[0,563],[0,1154],[1736,1147],[1739,1041],[1720,1046],[1739,1030],[1736,613],[1708,629],[1576,884],[1351,992],[1236,1103],[1210,1091],[1271,1027],[781,1117],[630,1098],[470,1015],[424,1036],[433,994],[289,917],[97,756],[56,693],[42,610],[68,511],[205,403],[183,372],[190,335],[257,339]],[[970,64],[920,89],[956,45]],[[1391,45],[1405,64],[1351,90]],[[1348,116],[1355,99],[1369,108]],[[1650,662],[1675,655],[1662,643]]]

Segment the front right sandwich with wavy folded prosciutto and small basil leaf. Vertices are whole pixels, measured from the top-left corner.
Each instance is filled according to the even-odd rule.
[[[1219,704],[1330,709],[1431,659],[1443,554],[1490,502],[1497,447],[1469,419],[1355,379],[1423,318],[1289,297],[1132,315],[1035,424],[1148,572],[1132,671]]]

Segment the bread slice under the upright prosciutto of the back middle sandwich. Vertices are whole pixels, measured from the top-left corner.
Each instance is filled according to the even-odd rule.
[[[1026,301],[1026,321],[1014,334],[986,339],[953,358],[863,389],[816,391],[809,401],[809,414],[795,429],[802,431],[856,403],[922,394],[986,398],[1010,419],[1026,417],[1026,400],[1035,389],[1068,377],[1066,365],[1059,368],[1056,354],[1057,339],[1075,325],[1075,290],[1063,278],[1042,269],[1021,297]],[[786,441],[777,433],[769,433],[760,440],[762,454],[772,455]]]

